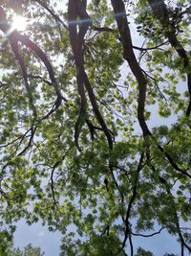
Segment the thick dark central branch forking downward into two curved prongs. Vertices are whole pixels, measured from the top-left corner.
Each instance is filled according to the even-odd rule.
[[[88,76],[84,69],[84,58],[83,58],[83,42],[84,42],[84,36],[86,35],[88,28],[90,25],[92,25],[92,20],[88,13],[86,12],[85,6],[80,1],[76,0],[70,0],[69,1],[69,36],[71,41],[71,46],[73,49],[74,54],[74,60],[75,60],[75,66],[77,70],[77,86],[78,86],[78,93],[80,95],[81,105],[80,105],[80,111],[79,116],[77,119],[77,122],[75,124],[75,141],[78,138],[79,131],[80,131],[80,118],[82,115],[85,116],[85,92],[84,92],[84,85],[88,91],[90,102],[93,106],[93,110],[96,115],[96,119],[103,129],[105,136],[107,137],[108,144],[110,149],[113,148],[113,139],[112,135],[107,128],[107,125],[98,109],[97,103],[96,103],[96,96],[93,91],[92,85],[88,79]],[[79,32],[77,34],[76,29],[76,18],[77,16],[80,17],[82,22],[79,25]]]

